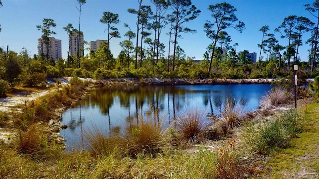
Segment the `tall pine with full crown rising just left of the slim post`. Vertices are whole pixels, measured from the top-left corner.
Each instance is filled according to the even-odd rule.
[[[293,35],[297,25],[298,25],[297,16],[290,15],[288,17],[285,17],[283,23],[278,28],[275,29],[275,32],[279,32],[281,34],[281,38],[287,38],[289,41],[287,46],[287,53],[286,53],[287,59],[288,59],[288,68],[290,67],[290,59],[295,53],[295,50],[293,49],[293,45],[292,45],[292,39],[293,39]],[[281,32],[280,30],[283,30],[283,32]]]

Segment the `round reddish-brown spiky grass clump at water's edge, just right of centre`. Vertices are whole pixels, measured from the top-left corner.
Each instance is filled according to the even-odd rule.
[[[181,140],[198,143],[200,134],[208,125],[206,113],[196,109],[185,109],[176,118],[176,130]]]

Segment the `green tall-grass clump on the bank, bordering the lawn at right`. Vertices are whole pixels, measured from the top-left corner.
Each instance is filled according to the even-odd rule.
[[[287,142],[287,136],[278,117],[263,122],[251,122],[243,131],[243,138],[253,152],[260,154],[267,154],[276,147],[284,147]]]

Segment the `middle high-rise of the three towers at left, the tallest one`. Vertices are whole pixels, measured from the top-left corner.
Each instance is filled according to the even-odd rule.
[[[80,32],[80,35],[78,35],[77,32],[73,31],[69,35],[69,45],[70,45],[70,52],[69,55],[77,55],[78,49],[79,54],[84,55],[84,44],[83,44],[84,38],[83,38],[83,32]]]

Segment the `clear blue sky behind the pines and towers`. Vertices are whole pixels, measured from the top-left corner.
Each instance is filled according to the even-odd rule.
[[[0,8],[0,47],[20,52],[25,47],[30,56],[37,54],[37,39],[41,37],[41,32],[37,30],[36,25],[42,25],[43,18],[51,18],[56,23],[56,39],[62,40],[62,57],[67,57],[68,36],[63,30],[68,23],[72,23],[75,28],[79,24],[79,12],[76,8],[76,0],[1,0],[3,6]],[[313,3],[314,0],[192,0],[192,3],[201,10],[199,16],[190,22],[184,24],[185,27],[197,30],[197,33],[182,33],[182,38],[178,39],[178,45],[185,51],[189,57],[195,57],[196,60],[203,59],[206,47],[211,43],[204,32],[204,23],[206,20],[212,20],[210,11],[207,9],[209,4],[215,4],[226,1],[237,8],[235,15],[245,23],[246,29],[239,33],[227,29],[231,36],[231,45],[238,43],[237,51],[248,50],[256,52],[259,57],[259,48],[257,44],[261,43],[262,32],[258,31],[260,27],[268,25],[269,33],[274,33],[274,29],[281,25],[285,17],[289,15],[305,16],[316,22],[316,19],[305,10],[304,4]],[[144,5],[153,5],[150,0],[143,0]],[[120,24],[116,25],[122,38],[112,38],[110,40],[110,49],[115,57],[122,48],[119,42],[126,40],[125,34],[128,29],[124,23],[130,25],[132,31],[136,32],[137,17],[130,14],[128,8],[138,8],[138,0],[87,0],[82,6],[81,31],[84,33],[84,40],[90,42],[97,39],[106,39],[107,33],[104,33],[106,25],[100,22],[104,11],[110,11],[119,14]],[[152,6],[152,8],[154,8]],[[169,11],[171,13],[171,11]],[[165,44],[165,54],[168,54],[168,28],[162,30],[161,42]],[[154,32],[153,32],[154,33]],[[153,38],[154,34],[151,35]],[[280,44],[287,45],[286,39],[281,39],[280,34],[275,33],[275,37]],[[310,33],[304,34],[305,42],[310,37]],[[135,41],[134,39],[133,41]],[[134,43],[135,44],[135,43]],[[147,45],[145,46],[147,48]],[[308,61],[308,44],[304,44],[300,49],[302,61]],[[88,53],[88,52],[85,52]],[[265,56],[265,54],[262,54]]]

